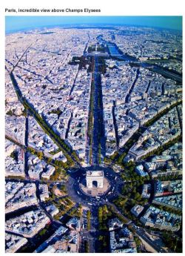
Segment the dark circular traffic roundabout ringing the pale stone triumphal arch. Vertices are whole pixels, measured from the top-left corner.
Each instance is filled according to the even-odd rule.
[[[88,183],[89,171],[103,171],[103,186],[92,178],[92,185]],[[93,176],[93,175],[92,175]],[[101,178],[102,179],[102,178]],[[99,205],[115,197],[118,191],[118,183],[120,177],[112,168],[104,168],[101,166],[90,166],[89,168],[79,168],[70,171],[70,179],[67,183],[67,191],[70,197],[76,203],[84,205]]]

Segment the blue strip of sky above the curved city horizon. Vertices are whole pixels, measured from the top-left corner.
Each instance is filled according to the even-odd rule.
[[[182,16],[6,16],[5,32],[63,24],[125,24],[182,30]]]

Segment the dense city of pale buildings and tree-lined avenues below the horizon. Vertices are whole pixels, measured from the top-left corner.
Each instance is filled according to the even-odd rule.
[[[182,35],[6,35],[5,252],[182,252]]]

